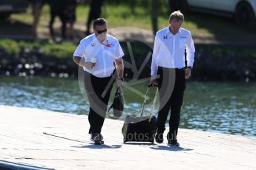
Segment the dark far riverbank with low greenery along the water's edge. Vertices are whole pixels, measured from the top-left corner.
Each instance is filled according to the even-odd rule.
[[[133,78],[143,66],[152,43],[120,42],[125,52],[125,78]],[[72,55],[77,44],[70,41],[0,41],[0,75],[43,75],[48,77],[77,77],[78,67]],[[256,50],[254,47],[196,44],[191,80],[197,81],[255,81]],[[136,67],[132,64],[134,57]],[[131,65],[133,67],[131,67]],[[150,75],[151,58],[142,68],[139,78]],[[135,68],[135,69],[134,69]]]

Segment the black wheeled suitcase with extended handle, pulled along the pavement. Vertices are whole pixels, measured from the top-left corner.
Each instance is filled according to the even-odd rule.
[[[145,103],[148,98],[148,90],[151,86],[148,86],[145,94],[144,102],[142,105],[140,116],[128,115],[125,118],[125,123],[122,126],[123,142],[151,142],[154,143],[154,137],[157,132],[157,118],[153,115],[154,105],[157,101],[157,92],[154,95],[154,101],[151,106],[151,113],[149,116],[143,116]]]

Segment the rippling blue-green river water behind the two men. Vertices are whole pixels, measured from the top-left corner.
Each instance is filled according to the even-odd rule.
[[[132,87],[143,94],[146,84]],[[131,88],[123,88],[123,92],[125,114],[139,114],[143,98]],[[0,94],[0,105],[71,114],[87,114],[89,109],[78,81],[71,78],[1,77]],[[149,112],[148,105],[145,114]],[[180,127],[256,136],[256,82],[188,82]]]

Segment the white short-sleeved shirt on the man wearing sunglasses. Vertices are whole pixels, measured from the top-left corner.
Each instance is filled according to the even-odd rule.
[[[73,56],[81,57],[85,62],[91,62],[91,58],[96,58],[96,64],[92,70],[83,68],[99,78],[111,76],[115,69],[114,60],[122,58],[123,55],[122,47],[114,36],[107,34],[105,41],[101,43],[94,33],[83,38],[73,53]]]

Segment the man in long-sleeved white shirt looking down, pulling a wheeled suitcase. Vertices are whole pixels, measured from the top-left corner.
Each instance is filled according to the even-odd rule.
[[[171,13],[169,26],[157,32],[151,62],[150,84],[154,86],[157,75],[160,76],[157,78],[160,89],[160,110],[157,117],[156,141],[163,143],[165,122],[171,110],[168,146],[180,146],[177,142],[180,109],[183,105],[186,79],[191,76],[194,63],[194,41],[191,33],[181,28],[183,20],[184,16],[179,10]]]

